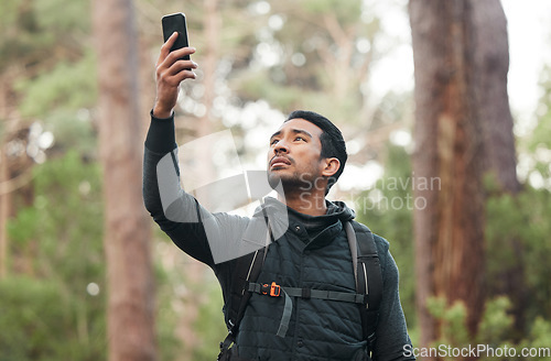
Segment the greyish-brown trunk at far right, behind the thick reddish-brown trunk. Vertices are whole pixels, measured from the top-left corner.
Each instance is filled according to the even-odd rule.
[[[520,192],[517,177],[512,116],[507,94],[509,45],[507,19],[499,0],[479,1],[473,7],[475,29],[475,66],[478,80],[479,119],[484,139],[484,168],[489,171],[500,194],[516,196]],[[491,280],[488,292],[507,295],[512,302],[515,328],[525,329],[525,305],[528,291],[525,282],[523,247],[520,240],[507,238],[504,248],[516,256],[504,264],[499,277]]]

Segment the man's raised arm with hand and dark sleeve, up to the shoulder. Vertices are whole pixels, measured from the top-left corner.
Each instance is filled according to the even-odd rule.
[[[156,63],[156,99],[143,157],[143,200],[153,220],[180,249],[214,267],[250,252],[251,248],[263,247],[267,228],[263,218],[251,225],[247,217],[210,214],[180,185],[173,108],[180,84],[195,78],[193,70],[186,68],[197,65],[181,59],[194,53],[193,48],[169,52],[175,39],[176,34],[162,46]],[[260,238],[259,245],[256,241]],[[244,239],[253,242],[250,245]]]

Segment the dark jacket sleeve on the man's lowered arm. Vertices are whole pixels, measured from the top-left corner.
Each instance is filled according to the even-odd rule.
[[[406,352],[411,350],[411,340],[398,291],[398,266],[388,249],[381,258],[382,262],[382,300],[376,329],[374,360],[415,360],[409,352]]]

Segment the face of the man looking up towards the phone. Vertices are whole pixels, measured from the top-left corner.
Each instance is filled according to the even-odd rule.
[[[276,187],[312,189],[323,177],[321,158],[323,131],[304,119],[291,119],[270,138],[268,152],[268,180]]]

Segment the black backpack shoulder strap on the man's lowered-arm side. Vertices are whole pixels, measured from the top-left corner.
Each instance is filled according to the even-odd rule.
[[[367,304],[359,307],[364,338],[368,341],[369,351],[372,351],[382,299],[382,274],[377,245],[367,227],[356,227],[355,230],[352,222],[344,223],[356,277],[356,292],[367,295]]]

